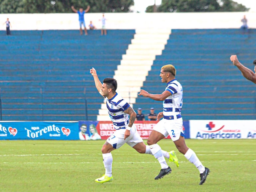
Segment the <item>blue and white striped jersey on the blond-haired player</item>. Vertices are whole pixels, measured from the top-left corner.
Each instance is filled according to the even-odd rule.
[[[170,91],[172,95],[163,101],[163,115],[173,116],[181,115],[183,104],[183,90],[182,85],[176,79],[167,83],[166,91]]]

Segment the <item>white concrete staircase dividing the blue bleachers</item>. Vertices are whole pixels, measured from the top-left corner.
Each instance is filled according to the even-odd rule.
[[[171,29],[137,29],[134,39],[122,55],[113,78],[117,80],[118,94],[132,106],[138,92],[151,70],[156,55],[161,55],[171,34]],[[159,69],[160,70],[160,69]],[[97,121],[110,121],[106,103],[101,104]]]

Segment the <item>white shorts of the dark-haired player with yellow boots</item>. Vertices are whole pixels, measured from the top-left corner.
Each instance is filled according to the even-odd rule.
[[[115,149],[120,148],[125,143],[133,147],[134,145],[143,142],[134,124],[130,132],[131,135],[124,140],[125,129],[116,130],[111,136],[109,136],[107,142],[111,144]]]

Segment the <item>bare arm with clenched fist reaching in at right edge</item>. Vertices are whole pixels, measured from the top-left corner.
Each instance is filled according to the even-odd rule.
[[[249,69],[249,68],[245,67],[243,64],[241,64],[236,55],[231,55],[230,60],[242,72],[242,75],[246,79],[248,79],[256,84],[256,74],[251,69]]]

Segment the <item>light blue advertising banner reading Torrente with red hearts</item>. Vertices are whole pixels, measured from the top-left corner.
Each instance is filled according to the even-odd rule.
[[[78,122],[0,122],[0,140],[78,140]]]

